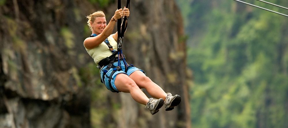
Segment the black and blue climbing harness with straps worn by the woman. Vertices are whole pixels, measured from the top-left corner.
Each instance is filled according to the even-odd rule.
[[[127,8],[130,8],[129,4],[130,4],[130,0],[127,0],[127,2],[126,2],[126,7]],[[120,8],[121,8],[121,0],[118,0],[118,9],[120,9]],[[122,26],[121,26],[121,24],[122,24]],[[110,45],[108,39],[105,39],[104,42],[109,47],[110,51],[112,52],[112,55],[109,56],[109,57],[106,57],[103,60],[101,60],[98,63],[98,66],[97,66],[97,68],[99,68],[100,70],[102,70],[103,67],[107,66],[105,69],[103,69],[103,75],[102,75],[103,79],[101,79],[101,82],[105,84],[105,77],[109,78],[108,81],[109,81],[109,87],[111,88],[110,91],[117,92],[117,93],[119,91],[113,89],[112,84],[111,84],[111,80],[112,80],[113,74],[116,71],[122,70],[120,61],[122,60],[124,62],[125,72],[127,72],[129,67],[133,67],[132,64],[128,64],[126,62],[126,58],[125,58],[125,56],[124,56],[124,54],[122,52],[122,43],[123,43],[123,39],[124,39],[124,33],[125,33],[126,29],[127,29],[127,24],[128,24],[128,18],[126,16],[124,16],[123,22],[121,22],[121,20],[118,19],[118,21],[117,21],[117,31],[118,31],[117,51],[113,49],[113,47]],[[90,35],[90,37],[95,37],[95,36],[97,36],[97,35],[96,34]],[[118,57],[116,57],[116,54],[117,54]],[[118,62],[118,66],[114,66],[113,65],[114,62]],[[111,72],[110,76],[107,76],[107,72],[111,68],[113,69],[113,71]]]

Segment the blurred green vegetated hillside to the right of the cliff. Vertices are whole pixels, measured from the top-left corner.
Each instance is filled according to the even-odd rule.
[[[288,127],[288,18],[236,1],[177,2],[194,74],[193,127]]]

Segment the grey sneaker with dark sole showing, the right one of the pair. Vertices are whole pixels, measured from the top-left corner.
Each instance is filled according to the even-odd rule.
[[[171,93],[167,93],[167,97],[165,99],[164,105],[165,110],[170,111],[173,110],[175,106],[180,104],[181,102],[181,96],[180,95],[172,95]]]

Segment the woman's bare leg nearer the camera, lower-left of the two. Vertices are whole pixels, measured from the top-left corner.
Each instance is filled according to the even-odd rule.
[[[143,91],[130,77],[128,77],[127,74],[117,74],[114,84],[119,91],[130,93],[132,98],[140,104],[146,105],[149,100],[145,93],[143,93]]]

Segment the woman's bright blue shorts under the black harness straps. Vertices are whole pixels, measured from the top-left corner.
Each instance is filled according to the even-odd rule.
[[[130,75],[130,74],[132,74],[133,72],[135,72],[135,71],[137,71],[137,70],[140,70],[141,72],[144,72],[143,70],[141,70],[141,69],[139,69],[139,68],[137,68],[137,67],[128,67],[128,70],[127,70],[127,73],[125,72],[125,65],[124,65],[124,62],[123,62],[123,60],[121,60],[120,61],[121,62],[121,70],[120,71],[116,71],[113,75],[112,75],[112,79],[111,79],[111,85],[112,85],[112,87],[113,87],[113,89],[114,90],[116,90],[116,91],[119,91],[117,88],[116,88],[116,86],[115,86],[115,78],[116,78],[116,75],[117,74],[119,74],[119,73],[124,73],[124,74],[127,74],[128,76]],[[114,66],[118,66],[118,62],[114,62],[113,63],[113,65]],[[108,65],[106,65],[106,66],[104,66],[103,68],[101,68],[101,70],[100,70],[100,76],[101,76],[101,79],[103,80],[103,70],[104,69],[106,69],[107,68],[107,66]],[[104,79],[104,84],[105,84],[105,86],[106,86],[106,88],[108,89],[108,90],[110,90],[110,91],[112,91],[112,89],[110,88],[110,86],[109,86],[109,77],[110,77],[110,75],[111,75],[111,73],[112,73],[112,71],[113,71],[113,68],[110,68],[110,70],[105,74],[105,79]]]

